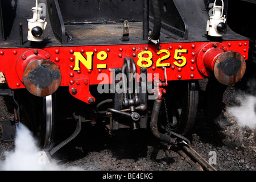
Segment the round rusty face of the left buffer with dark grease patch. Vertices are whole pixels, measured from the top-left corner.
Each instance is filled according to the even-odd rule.
[[[24,71],[23,82],[31,94],[39,97],[49,96],[60,86],[60,69],[48,60],[33,61]]]

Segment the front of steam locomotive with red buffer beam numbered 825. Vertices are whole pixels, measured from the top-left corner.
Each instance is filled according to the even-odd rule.
[[[51,155],[82,122],[187,140],[198,81],[209,79],[214,119],[249,56],[249,38],[228,26],[228,0],[0,0],[0,15],[0,94]],[[77,125],[56,145],[63,119]]]

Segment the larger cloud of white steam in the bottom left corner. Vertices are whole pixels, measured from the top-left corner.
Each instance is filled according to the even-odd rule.
[[[6,159],[0,163],[1,170],[7,171],[56,171],[81,170],[80,168],[60,168],[57,164],[49,163],[44,151],[40,151],[38,142],[26,126],[19,123],[16,129],[15,148],[6,152]]]

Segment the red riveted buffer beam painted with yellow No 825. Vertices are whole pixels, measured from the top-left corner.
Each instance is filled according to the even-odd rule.
[[[151,44],[0,49],[0,71],[4,73],[10,88],[24,88],[22,82],[24,69],[28,63],[40,56],[59,67],[61,72],[60,86],[69,86],[70,89],[76,88],[77,93],[73,96],[82,98],[82,101],[88,103],[88,98],[93,98],[89,93],[89,85],[111,84],[113,78],[110,70],[121,68],[125,57],[133,57],[137,64],[138,74],[140,74],[140,67],[147,68],[148,81],[152,81],[152,74],[154,73],[159,74],[162,81],[166,81],[164,80],[165,76],[168,81],[206,78],[211,75],[210,70],[213,70],[212,62],[203,65],[200,52],[213,49],[213,46],[207,46],[210,44],[213,45],[212,42],[161,43],[160,51]],[[216,52],[216,56],[220,52],[236,51],[247,59],[248,45],[249,40],[217,43],[217,47],[222,48],[222,51]],[[206,49],[204,46],[207,46]],[[36,49],[38,55],[34,53]],[[77,60],[77,55],[83,57],[84,63],[88,64],[87,67],[90,69],[85,67],[81,60]],[[90,56],[92,56],[91,67],[88,61]],[[151,57],[148,58],[148,56]],[[79,69],[75,71],[74,69],[77,67]],[[164,75],[162,67],[166,67],[166,75]],[[99,77],[101,74],[107,78],[101,79]],[[85,86],[85,90],[84,88],[81,89],[84,87],[81,84],[82,80],[87,80],[89,83]],[[76,81],[80,81],[80,85],[77,85]]]

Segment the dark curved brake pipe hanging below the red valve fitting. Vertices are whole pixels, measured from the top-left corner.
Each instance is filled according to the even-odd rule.
[[[163,101],[162,99],[158,98],[154,102],[154,106],[151,114],[151,122],[150,122],[152,134],[154,134],[156,138],[162,140],[163,142],[167,142],[170,144],[177,144],[176,138],[171,138],[169,135],[162,134],[158,130],[158,115],[159,115],[162,101]]]

